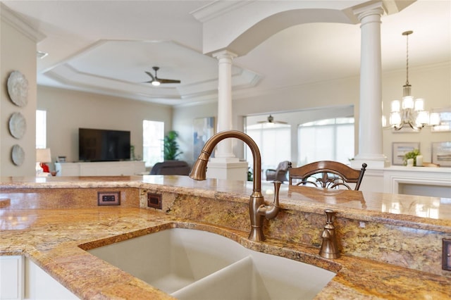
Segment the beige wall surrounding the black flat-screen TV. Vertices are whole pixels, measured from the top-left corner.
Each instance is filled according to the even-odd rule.
[[[47,111],[47,147],[52,161],[78,161],[78,128],[130,130],[135,155],[142,157],[142,120],[165,123],[172,130],[172,108],[113,96],[41,87],[37,109]],[[53,168],[53,167],[52,167]]]

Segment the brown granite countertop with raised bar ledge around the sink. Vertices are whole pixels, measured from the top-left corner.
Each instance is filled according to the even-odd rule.
[[[443,239],[451,239],[450,199],[284,185],[279,215],[264,224],[267,240],[252,242],[249,182],[2,177],[0,188],[0,254],[30,258],[80,299],[171,299],[85,250],[172,227],[337,273],[316,299],[451,298],[451,271],[441,260]],[[272,185],[262,189],[272,201]],[[99,192],[118,193],[119,205],[99,206]],[[149,207],[154,196],[161,208]],[[336,211],[342,254],[333,260],[319,256],[326,208]]]

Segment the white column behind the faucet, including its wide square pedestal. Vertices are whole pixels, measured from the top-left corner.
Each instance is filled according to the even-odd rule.
[[[232,130],[232,61],[237,55],[230,51],[213,54],[218,59],[218,132]],[[206,177],[230,180],[247,180],[247,162],[233,154],[233,139],[223,139],[216,146]]]

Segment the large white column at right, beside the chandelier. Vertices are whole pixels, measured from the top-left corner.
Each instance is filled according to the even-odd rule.
[[[382,137],[382,67],[381,67],[381,15],[382,2],[354,10],[360,20],[360,100],[359,100],[359,154],[352,167],[383,168]]]

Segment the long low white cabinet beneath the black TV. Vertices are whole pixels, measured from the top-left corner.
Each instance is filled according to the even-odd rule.
[[[130,176],[146,171],[144,161],[55,163],[56,176]]]

